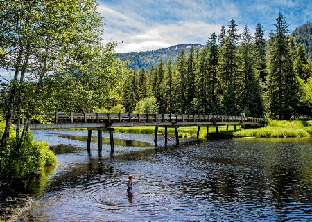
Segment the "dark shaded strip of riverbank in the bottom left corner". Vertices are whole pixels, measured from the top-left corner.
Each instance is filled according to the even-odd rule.
[[[33,198],[26,194],[21,194],[10,188],[10,185],[0,178],[0,221],[13,222],[31,207]]]

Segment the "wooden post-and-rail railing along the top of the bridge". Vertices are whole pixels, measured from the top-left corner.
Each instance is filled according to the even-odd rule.
[[[179,115],[150,113],[48,113],[54,123],[114,123],[114,122],[254,122],[263,123],[264,118],[232,115]]]

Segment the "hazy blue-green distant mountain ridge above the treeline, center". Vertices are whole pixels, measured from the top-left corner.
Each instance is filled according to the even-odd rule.
[[[139,53],[117,53],[116,57],[123,61],[128,59],[130,61],[130,65],[128,66],[128,68],[146,68],[146,70],[148,70],[153,63],[155,66],[157,66],[157,64],[160,62],[160,59],[162,59],[162,62],[164,62],[164,64],[167,64],[169,58],[171,57],[173,63],[175,63],[177,55],[181,52],[181,50],[184,49],[186,51],[189,51],[192,45],[194,46],[194,48],[204,48],[204,46],[201,44],[179,44],[175,46],[170,46],[168,48],[160,48],[153,51]]]

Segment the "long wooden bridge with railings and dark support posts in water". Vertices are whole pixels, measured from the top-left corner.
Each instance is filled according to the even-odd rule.
[[[180,126],[197,126],[197,138],[200,127],[206,127],[207,138],[209,127],[234,126],[242,127],[263,127],[264,118],[254,118],[245,116],[230,115],[177,115],[177,114],[148,114],[148,113],[48,113],[53,124],[29,124],[30,129],[64,129],[64,128],[87,128],[87,151],[90,151],[92,130],[98,131],[98,150],[102,150],[102,131],[110,133],[110,147],[114,152],[113,127],[155,127],[155,145],[157,145],[158,127],[164,127],[165,145],[168,141],[168,127],[175,128],[175,140],[179,144],[179,134],[177,129]]]

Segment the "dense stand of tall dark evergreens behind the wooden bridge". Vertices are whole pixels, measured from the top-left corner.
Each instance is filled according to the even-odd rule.
[[[125,85],[126,112],[154,95],[160,113],[239,115],[244,111],[249,116],[285,120],[312,115],[311,62],[303,45],[296,52],[281,13],[276,21],[269,39],[261,24],[252,36],[247,26],[240,34],[232,20],[228,30],[222,26],[219,44],[213,33],[206,46],[182,49],[168,62],[159,55],[146,69],[135,70]],[[311,39],[311,33],[304,35]],[[166,50],[170,57],[171,48]],[[144,60],[146,54],[127,56]]]

